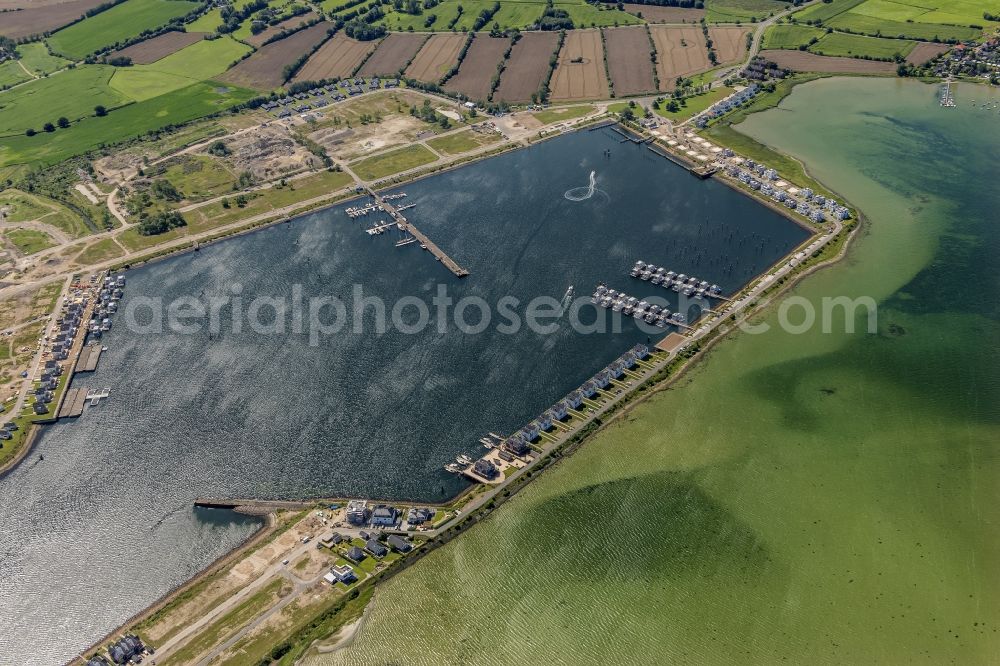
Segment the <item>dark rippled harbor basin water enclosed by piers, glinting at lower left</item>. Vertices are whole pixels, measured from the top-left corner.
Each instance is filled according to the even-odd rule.
[[[610,156],[605,151],[610,151]],[[594,195],[564,193],[588,185]],[[391,308],[456,301],[495,306],[589,296],[598,281],[638,297],[676,297],[628,277],[637,259],[733,291],[803,241],[804,229],[742,194],[699,181],[609,130],[544,142],[401,188],[406,214],[472,275],[454,278],[417,244],[364,233],[375,216],[325,210],[128,273],[123,311],[100,368],[75,385],[111,398],[49,427],[0,480],[0,662],[26,663],[39,641],[60,662],[245,539],[251,519],[194,511],[198,496],[366,496],[444,500],[464,482],[442,470],[482,451],[649,334],[374,332],[374,314],[310,345],[308,335],[223,325],[140,333],[146,299],[349,299],[354,285]],[[238,287],[237,287],[238,285]],[[671,309],[676,309],[671,307]],[[231,320],[232,308],[221,320]],[[590,311],[584,308],[584,318]],[[271,317],[263,311],[262,320]],[[468,320],[478,316],[471,310]],[[412,314],[412,311],[411,311]],[[523,314],[523,311],[521,311]],[[40,456],[44,456],[44,460]]]

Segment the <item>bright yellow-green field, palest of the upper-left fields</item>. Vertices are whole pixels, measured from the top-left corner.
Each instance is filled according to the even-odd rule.
[[[141,102],[218,76],[250,50],[228,36],[202,40],[149,65],[120,68],[111,87]]]

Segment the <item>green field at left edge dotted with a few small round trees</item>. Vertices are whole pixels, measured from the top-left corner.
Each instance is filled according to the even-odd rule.
[[[106,65],[81,65],[3,93],[0,136],[24,134],[29,127],[41,131],[44,123],[55,123],[61,116],[70,121],[91,116],[98,104],[112,109],[127,103],[127,97],[108,85],[114,72]]]

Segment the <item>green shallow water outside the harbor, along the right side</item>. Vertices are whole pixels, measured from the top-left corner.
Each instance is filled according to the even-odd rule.
[[[995,662],[1000,116],[934,94],[826,79],[741,127],[868,216],[795,294],[877,333],[732,337],[314,662]]]

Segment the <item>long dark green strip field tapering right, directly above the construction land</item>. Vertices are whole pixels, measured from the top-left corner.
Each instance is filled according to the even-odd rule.
[[[53,81],[63,76],[66,74],[44,81]],[[104,118],[90,115],[66,130],[57,130],[51,134],[40,133],[33,137],[20,133],[18,136],[11,136],[0,143],[0,166],[54,164],[102,144],[128,140],[167,125],[177,125],[224,111],[254,95],[253,91],[244,88],[221,88],[216,84],[196,83],[166,95],[115,109]],[[7,117],[8,114],[0,113],[0,118]]]

